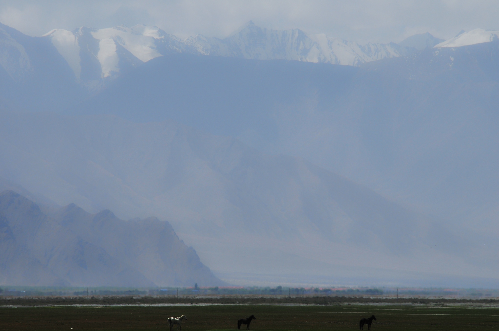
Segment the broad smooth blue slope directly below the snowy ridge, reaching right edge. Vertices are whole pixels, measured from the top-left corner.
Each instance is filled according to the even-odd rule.
[[[360,68],[158,57],[78,111],[172,118],[304,157],[442,218],[489,223],[499,198],[497,50],[495,41],[434,48]]]

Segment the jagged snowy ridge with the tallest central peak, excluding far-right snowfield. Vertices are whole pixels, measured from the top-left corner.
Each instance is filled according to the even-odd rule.
[[[354,66],[411,52],[395,43],[360,45],[300,29],[261,28],[253,22],[224,39],[198,34],[182,40],[156,26],[145,25],[104,29],[80,27],[74,31],[53,29],[43,37],[52,41],[73,69],[76,79],[82,82],[113,77],[155,57],[181,52]]]

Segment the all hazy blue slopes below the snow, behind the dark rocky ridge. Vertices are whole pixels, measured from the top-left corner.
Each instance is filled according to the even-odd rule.
[[[55,46],[7,32],[2,61],[19,62],[2,62],[3,108],[94,114],[1,112],[0,176],[37,202],[156,215],[226,274],[495,279],[497,41],[360,67],[190,54],[134,65],[116,46],[128,72],[87,98]],[[39,66],[23,38],[50,53]],[[47,63],[60,67],[45,75]]]

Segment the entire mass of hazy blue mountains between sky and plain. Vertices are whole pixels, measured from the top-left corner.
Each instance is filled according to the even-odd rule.
[[[0,24],[0,284],[498,287],[498,35]]]

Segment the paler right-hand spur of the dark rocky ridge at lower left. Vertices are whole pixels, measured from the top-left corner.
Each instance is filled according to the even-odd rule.
[[[154,217],[125,222],[109,210],[92,215],[74,204],[61,208],[54,218],[84,240],[134,266],[157,286],[224,284],[168,222]]]

